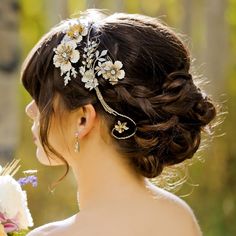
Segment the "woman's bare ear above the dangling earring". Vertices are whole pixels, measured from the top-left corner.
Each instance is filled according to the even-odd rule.
[[[81,108],[77,119],[77,132],[79,138],[85,137],[94,127],[96,111],[93,105],[88,104]]]

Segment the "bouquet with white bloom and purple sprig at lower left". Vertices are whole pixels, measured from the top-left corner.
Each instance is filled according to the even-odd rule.
[[[33,171],[26,171],[25,177],[13,178],[19,170],[19,161],[14,160],[5,167],[0,166],[0,236],[24,236],[33,219],[27,206],[26,192],[21,186],[31,183],[37,186]]]

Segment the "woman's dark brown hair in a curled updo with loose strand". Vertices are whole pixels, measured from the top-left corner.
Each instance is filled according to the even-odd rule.
[[[125,79],[117,85],[101,78],[99,88],[109,106],[137,124],[133,137],[114,139],[118,150],[148,178],[158,176],[165,166],[191,158],[200,145],[201,131],[216,110],[194,84],[189,52],[182,41],[157,19],[143,15],[119,13],[95,23],[92,34],[100,34],[100,50],[107,49],[111,58],[122,61],[125,70]],[[40,40],[22,70],[23,85],[40,110],[43,147],[61,159],[47,139],[56,94],[68,110],[90,103],[99,115],[106,116],[110,130],[115,123],[94,91],[84,88],[80,75],[65,87],[54,67],[53,48],[60,43],[64,26],[65,22],[60,23]]]

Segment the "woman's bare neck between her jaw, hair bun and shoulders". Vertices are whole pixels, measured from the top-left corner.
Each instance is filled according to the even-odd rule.
[[[72,166],[78,184],[80,211],[130,201],[146,191],[145,179],[137,176],[114,146],[96,139],[84,144]]]

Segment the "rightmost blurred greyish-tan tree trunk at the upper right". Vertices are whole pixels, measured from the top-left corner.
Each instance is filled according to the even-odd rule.
[[[211,81],[211,93],[218,98],[225,92],[225,69],[227,65],[227,1],[206,0],[205,61],[207,77]]]

